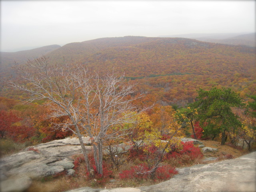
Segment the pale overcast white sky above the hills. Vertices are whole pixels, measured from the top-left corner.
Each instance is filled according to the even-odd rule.
[[[1,0],[1,51],[104,37],[255,32],[255,1]]]

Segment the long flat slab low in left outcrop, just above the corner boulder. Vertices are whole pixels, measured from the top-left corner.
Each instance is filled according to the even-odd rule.
[[[64,167],[62,166],[48,166],[42,163],[35,163],[35,164],[27,164],[18,168],[14,168],[6,172],[6,175],[15,176],[16,178],[27,176],[32,179],[36,179],[36,178],[58,174],[63,170],[64,170]]]

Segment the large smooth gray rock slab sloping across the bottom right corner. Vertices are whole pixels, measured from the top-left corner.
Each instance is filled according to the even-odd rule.
[[[255,167],[256,152],[253,152],[236,159],[180,168],[174,178],[139,189],[146,192],[255,192]]]

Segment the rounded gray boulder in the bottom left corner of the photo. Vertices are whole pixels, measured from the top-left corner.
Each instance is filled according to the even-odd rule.
[[[22,177],[18,179],[9,179],[2,181],[0,188],[2,192],[23,192],[28,189],[32,184],[32,180],[29,177]]]

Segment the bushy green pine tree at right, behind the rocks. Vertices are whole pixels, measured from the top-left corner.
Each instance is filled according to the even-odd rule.
[[[204,135],[215,137],[222,133],[222,144],[225,132],[241,126],[241,122],[232,112],[231,107],[242,106],[241,98],[231,89],[212,88],[209,91],[198,90],[198,101],[194,107],[198,109],[198,120],[204,128]]]

